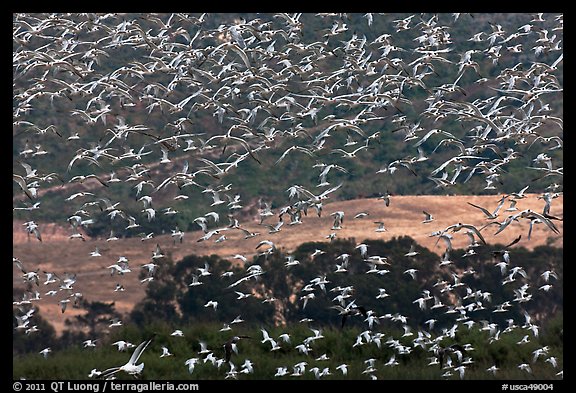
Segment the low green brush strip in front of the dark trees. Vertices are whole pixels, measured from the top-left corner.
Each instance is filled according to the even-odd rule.
[[[562,323],[561,315],[558,315],[548,325]],[[49,360],[44,359],[39,354],[18,355],[14,358],[13,378],[26,377],[27,379],[87,379],[93,368],[102,370],[108,367],[124,364],[130,354],[119,352],[116,346],[110,345],[116,340],[129,340],[138,344],[141,340],[149,337],[152,331],[158,333],[157,339],[150,348],[142,355],[141,361],[145,368],[142,379],[145,380],[210,380],[224,379],[229,366],[223,364],[219,369],[210,362],[200,361],[192,374],[188,372],[188,367],[184,362],[193,357],[202,359],[198,354],[200,351],[199,342],[205,342],[215,356],[223,357],[223,344],[233,334],[242,334],[251,338],[242,339],[238,344],[238,354],[233,354],[232,363],[236,365],[238,371],[246,359],[254,363],[254,373],[239,373],[238,379],[294,379],[289,375],[274,377],[278,367],[287,367],[289,373],[293,372],[293,366],[301,361],[308,363],[307,370],[313,367],[321,369],[328,367],[332,375],[323,379],[370,379],[366,370],[364,360],[376,359],[376,369],[373,375],[379,379],[443,379],[443,370],[438,365],[428,366],[433,354],[420,347],[413,348],[412,352],[406,355],[396,354],[399,364],[395,367],[385,366],[394,351],[386,340],[390,337],[399,338],[405,345],[410,345],[410,339],[402,339],[402,332],[399,329],[379,329],[385,334],[381,348],[375,343],[365,344],[352,348],[356,337],[363,329],[350,326],[345,329],[326,327],[322,329],[322,340],[315,341],[311,347],[309,355],[302,355],[294,346],[302,342],[306,337],[312,335],[310,329],[304,324],[291,325],[288,328],[270,328],[268,332],[272,337],[288,333],[293,344],[281,343],[282,349],[270,352],[270,344],[261,343],[262,333],[257,328],[239,327],[234,332],[219,332],[219,325],[210,323],[194,323],[179,326],[184,333],[184,337],[173,337],[170,333],[172,327],[167,324],[156,323],[146,330],[141,330],[134,325],[123,327],[112,333],[106,342],[100,343],[96,348],[82,348],[81,344],[70,346],[67,349],[51,354]],[[464,379],[501,379],[501,380],[550,380],[559,379],[556,373],[562,369],[563,347],[562,343],[546,344],[550,345],[550,353],[558,357],[558,367],[554,368],[549,363],[540,358],[532,363],[533,354],[536,348],[545,345],[550,341],[557,341],[557,336],[545,329],[542,336],[534,339],[527,345],[517,345],[523,332],[515,331],[504,335],[500,341],[486,345],[487,333],[478,329],[462,330],[457,335],[455,341],[470,343],[474,348],[467,353],[474,359],[474,363],[466,369]],[[169,348],[173,356],[160,358],[161,347]],[[328,360],[315,360],[326,354]],[[87,356],[89,355],[89,356]],[[348,375],[343,376],[337,366],[346,363],[349,365]],[[532,374],[517,368],[517,364],[528,363],[531,366]],[[487,372],[486,369],[492,365],[497,365],[499,371],[496,375]],[[458,373],[448,377],[448,379],[459,379]],[[119,379],[132,379],[127,375],[119,375]],[[307,371],[302,379],[314,379],[313,373]],[[445,377],[446,378],[446,377]]]

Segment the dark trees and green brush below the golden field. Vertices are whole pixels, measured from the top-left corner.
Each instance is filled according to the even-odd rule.
[[[405,257],[406,250],[413,244],[409,237],[395,238],[391,241],[365,241],[370,255],[386,255],[390,270],[384,275],[365,274],[366,263],[355,249],[354,239],[335,240],[332,243],[302,244],[291,255],[299,264],[285,267],[287,255],[276,250],[269,255],[257,256],[245,266],[233,264],[215,255],[208,257],[187,256],[174,263],[166,258],[154,280],[147,289],[147,297],[134,307],[131,315],[124,316],[124,326],[108,328],[109,318],[113,317],[113,305],[98,302],[86,302],[86,314],[76,317],[68,323],[68,330],[62,338],[56,338],[48,328],[41,342],[38,337],[14,334],[14,370],[13,377],[27,379],[85,379],[93,368],[105,369],[126,362],[129,353],[120,353],[113,346],[117,340],[139,343],[157,333],[156,339],[142,356],[145,362],[145,379],[223,379],[230,367],[226,364],[220,368],[210,362],[204,362],[206,354],[199,354],[200,342],[207,344],[216,358],[224,357],[223,344],[234,335],[249,336],[238,343],[238,354],[232,355],[232,363],[241,370],[246,359],[254,363],[253,373],[239,373],[238,379],[273,379],[278,367],[287,367],[293,371],[294,364],[300,361],[308,363],[307,369],[328,367],[331,375],[323,379],[369,379],[374,375],[379,379],[458,379],[458,373],[450,377],[442,376],[446,370],[438,365],[428,364],[434,358],[433,342],[437,344],[469,344],[473,350],[465,353],[473,363],[466,366],[465,379],[558,379],[556,373],[562,370],[563,364],[563,264],[562,249],[548,246],[538,247],[529,252],[523,248],[514,249],[511,266],[522,267],[526,277],[519,276],[518,281],[502,285],[500,268],[495,265],[499,258],[493,255],[500,245],[479,247],[474,257],[461,257],[464,250],[452,250],[450,267],[439,266],[439,257],[427,249],[416,246],[419,254],[414,258]],[[312,260],[310,255],[321,249],[324,254]],[[347,273],[334,273],[336,258],[350,254],[350,265]],[[543,263],[543,261],[546,261]],[[198,274],[200,268],[208,264],[210,275],[201,276],[202,285],[189,286],[192,275]],[[264,274],[258,280],[250,279],[233,287],[236,280],[246,275],[248,266],[260,265]],[[413,280],[403,272],[410,267],[418,267],[416,279]],[[473,269],[473,272],[472,270]],[[554,280],[549,291],[538,290],[540,281],[528,277],[540,277],[545,270],[554,270],[558,280]],[[232,276],[223,277],[225,272]],[[312,291],[304,290],[307,284],[316,277],[326,277],[325,290],[313,286]],[[453,282],[453,275],[460,277],[464,284],[459,288],[443,293],[441,286],[434,284],[440,281]],[[338,304],[334,300],[340,285],[353,287],[351,296],[345,304],[354,301],[366,310],[379,316],[372,328],[360,316],[351,316],[342,327],[341,317],[333,308]],[[523,304],[511,302],[508,312],[494,313],[498,304],[511,300],[514,291],[528,284],[533,294],[532,300]],[[389,297],[377,299],[378,288],[386,288]],[[423,290],[431,290],[434,296],[447,307],[422,310],[414,300],[421,296]],[[490,292],[489,300],[482,300],[485,309],[475,309],[466,313],[467,318],[459,319],[460,313],[447,313],[454,305],[469,305],[471,292],[481,289]],[[237,292],[250,294],[246,299],[238,299]],[[313,292],[315,297],[306,306],[303,297]],[[264,303],[266,298],[275,298],[274,302]],[[206,307],[209,300],[218,301],[216,310]],[[525,321],[524,312],[534,316],[538,334],[531,330]],[[405,317],[405,323],[395,317]],[[236,317],[244,322],[231,323]],[[306,318],[309,322],[303,322]],[[433,328],[427,320],[435,318]],[[468,325],[466,322],[473,321]],[[228,324],[231,330],[226,330]],[[497,339],[494,332],[487,327],[494,324],[500,330]],[[404,326],[410,326],[411,335],[405,335]],[[513,327],[511,327],[513,326]],[[446,335],[446,330],[455,329],[453,337]],[[42,330],[44,331],[44,326]],[[180,329],[184,337],[172,336],[175,329]],[[280,349],[270,351],[271,344],[263,343],[261,329],[268,331]],[[313,336],[312,329],[319,329],[323,339],[310,341],[310,353],[300,353],[296,346],[306,338]],[[363,333],[364,332],[364,333]],[[362,345],[354,345],[358,337],[369,332],[369,335],[382,334],[378,340]],[[282,341],[279,336],[287,333],[290,343]],[[422,346],[414,344],[421,334],[429,334],[430,341]],[[526,344],[518,344],[529,337]],[[93,337],[103,337],[95,348],[83,348],[82,341]],[[408,348],[407,353],[399,353],[392,341]],[[52,346],[50,362],[43,363],[38,352]],[[160,358],[161,347],[166,346],[173,356]],[[533,361],[533,352],[548,347],[548,355],[554,356],[557,367],[552,367],[544,357]],[[129,352],[129,351],[128,351]],[[89,353],[90,356],[86,356]],[[323,354],[329,360],[316,360]],[[392,356],[398,365],[385,366]],[[188,372],[184,362],[197,357],[199,363],[193,373]],[[376,371],[364,372],[365,360],[376,359]],[[455,360],[455,359],[454,359]],[[336,369],[342,363],[349,365],[347,376]],[[532,373],[519,370],[518,365],[527,363]],[[75,367],[70,367],[72,364]],[[46,367],[49,365],[49,367]],[[493,376],[486,369],[496,365],[499,371]],[[126,377],[126,376],[124,376]],[[281,377],[291,379],[289,376]],[[314,379],[311,372],[306,372],[303,379]],[[293,378],[292,378],[293,379]]]

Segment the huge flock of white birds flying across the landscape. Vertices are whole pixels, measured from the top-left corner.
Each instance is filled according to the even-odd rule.
[[[558,108],[554,107],[561,102],[563,91],[559,79],[563,15],[514,14],[511,20],[522,21],[518,26],[505,29],[494,22],[473,36],[453,33],[460,26],[475,24],[474,18],[474,14],[400,17],[376,13],[258,14],[251,20],[182,13],[14,14],[14,212],[28,217],[24,230],[32,240],[42,242],[42,222],[36,217],[41,216],[43,198],[54,189],[70,190],[62,202],[74,213],[62,224],[69,225],[72,241],[87,241],[85,228],[95,223],[98,213],[105,213],[110,223],[122,222],[124,236],[134,236],[140,223],[154,222],[160,214],[177,215],[180,206],[202,198],[214,210],[193,220],[202,232],[194,241],[222,243],[231,231],[246,239],[260,236],[256,251],[247,253],[265,257],[278,248],[277,233],[297,230],[292,227],[297,228],[310,212],[332,217],[331,227],[319,228],[319,232],[329,232],[325,236],[328,240],[337,236],[349,217],[365,217],[367,214],[353,216],[345,211],[324,213],[323,207],[328,199],[337,199],[345,186],[345,181],[334,184],[333,179],[353,176],[354,163],[385,149],[380,139],[393,133],[412,154],[390,157],[378,172],[367,176],[367,182],[424,176],[435,187],[451,192],[457,185],[481,179],[478,184],[485,185],[478,191],[500,194],[493,211],[470,204],[489,220],[483,227],[454,223],[432,232],[430,236],[438,237],[446,246],[439,268],[452,269],[449,254],[456,233],[469,237],[470,255],[478,245],[486,244],[482,233],[492,226],[500,233],[520,221],[529,222],[530,232],[522,241],[530,240],[532,227],[538,224],[558,235],[555,222],[562,218],[553,215],[552,206],[562,195],[563,167],[550,155],[563,148],[563,120],[556,116]],[[305,21],[311,20],[325,28],[310,31]],[[400,36],[411,37],[408,42],[412,45],[396,46]],[[345,143],[338,142],[344,139]],[[73,156],[60,171],[48,173],[43,169],[52,157],[61,154],[56,149],[45,150],[48,140],[73,146]],[[274,151],[278,152],[274,160],[263,160]],[[315,161],[309,170],[317,173],[318,184],[315,188],[286,184],[285,200],[262,198],[255,218],[261,231],[246,229],[242,223],[245,217],[240,214],[245,204],[243,185],[229,183],[227,175],[248,161],[257,167],[303,165],[302,154]],[[532,156],[528,171],[534,172],[535,180],[548,181],[538,197],[543,200],[541,211],[515,206],[526,197],[530,185],[515,193],[501,192],[507,168],[519,157]],[[433,169],[425,172],[422,168],[429,168],[430,162],[434,162]],[[84,174],[72,176],[71,172],[77,173],[79,168]],[[129,185],[130,197],[141,203],[141,210],[125,207],[122,198],[126,195],[115,191],[118,184]],[[169,193],[175,193],[172,200],[162,198]],[[382,190],[379,206],[393,209],[393,198],[392,193]],[[163,201],[164,206],[157,201]],[[508,208],[506,203],[510,203]],[[426,224],[425,228],[434,225],[432,214],[424,210],[423,215],[423,221],[415,224]],[[224,223],[222,216],[227,217]],[[376,231],[386,231],[383,222],[376,224]],[[374,230],[373,226],[369,230]],[[154,243],[148,240],[158,234],[142,234],[142,241]],[[117,235],[111,231],[106,241],[118,240]],[[173,244],[190,241],[186,235],[175,225]],[[490,293],[467,287],[461,304],[443,303],[438,294],[456,291],[464,286],[462,276],[473,273],[456,271],[452,271],[453,282],[438,283],[414,300],[422,310],[444,310],[456,316],[454,325],[444,327],[435,337],[429,332],[434,319],[424,329],[410,326],[402,315],[378,315],[355,304],[352,288],[331,288],[326,277],[311,282],[298,301],[303,302],[304,310],[315,294],[338,292],[334,309],[342,316],[342,327],[351,317],[361,318],[367,326],[354,347],[385,344],[394,349],[395,355],[380,365],[394,367],[400,356],[420,346],[430,351],[430,365],[439,365],[443,377],[464,378],[473,363],[473,348],[466,343],[449,347],[441,343],[444,338],[454,338],[458,329],[488,331],[490,342],[514,329],[525,330],[526,341],[538,336],[539,326],[527,313],[525,321],[510,320],[506,327],[473,318],[480,308],[506,312],[531,300],[534,287],[528,283],[520,261],[513,263],[510,246],[494,254],[502,285],[517,285],[510,301],[494,305]],[[367,262],[367,274],[384,275],[386,269],[394,268],[385,256],[370,255],[366,245],[356,248]],[[312,258],[318,253],[322,251],[317,250]],[[151,254],[150,261],[140,267],[146,272],[143,284],[154,280],[162,269],[164,254],[159,244],[152,246]],[[417,254],[412,247],[405,257]],[[96,248],[90,256],[79,258],[100,256]],[[228,288],[237,290],[241,299],[246,295],[238,290],[241,284],[258,280],[264,271],[244,255],[234,259],[245,266],[245,275]],[[348,254],[342,254],[334,261],[336,273],[348,274],[348,259]],[[81,280],[74,272],[43,272],[43,281],[35,261],[26,255],[14,255],[13,261],[27,288],[22,298],[14,300],[17,330],[25,334],[37,331],[33,323],[36,302],[58,299],[55,301],[65,313],[67,306],[82,300],[76,289]],[[285,267],[298,263],[288,258]],[[134,273],[133,265],[122,255],[107,269],[111,276]],[[415,279],[417,269],[404,273]],[[198,268],[190,290],[210,274],[210,266]],[[532,283],[538,282],[536,290],[545,292],[555,279],[556,273],[548,270]],[[40,286],[50,290],[42,294]],[[115,290],[124,288],[118,285]],[[391,296],[385,288],[379,288],[375,295],[379,299]],[[211,301],[205,307],[217,312],[218,303]],[[413,336],[413,346],[394,337],[383,339],[384,333],[376,329],[382,319],[399,323],[404,336]],[[121,325],[121,320],[111,321],[110,328]],[[294,345],[307,359],[279,367],[274,377],[306,372],[318,379],[335,373],[346,376],[347,364],[336,370],[307,368],[307,362],[313,362],[307,355],[311,346],[323,339],[321,330],[311,331],[302,343],[292,344],[287,335],[273,338],[262,330],[262,343],[269,343],[271,351]],[[233,354],[238,356],[237,344],[243,338],[234,335],[224,343],[222,358],[218,352],[203,348],[182,366],[193,373],[198,363],[227,364],[227,378],[251,373],[257,365],[249,359],[240,368],[231,359]],[[84,346],[94,346],[96,340],[88,340]],[[87,375],[114,378],[121,371],[140,375],[144,365],[137,363],[152,340],[138,346],[114,343],[120,351],[135,347],[128,362],[103,371],[97,368],[105,365],[95,365],[97,368]],[[41,355],[48,359],[50,352],[46,348]],[[170,355],[164,347],[161,356]],[[536,361],[557,366],[554,354],[546,347],[534,353]],[[367,359],[365,364],[363,373],[375,378],[376,359]],[[529,364],[519,364],[518,368],[531,372]],[[486,373],[497,370],[494,365]]]

